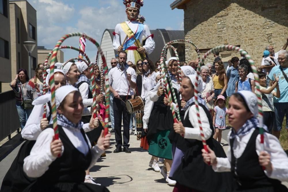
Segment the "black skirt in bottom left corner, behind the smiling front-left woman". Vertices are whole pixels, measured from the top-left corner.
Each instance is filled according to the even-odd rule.
[[[30,154],[35,142],[36,141],[25,141],[22,144],[16,158],[3,179],[0,191],[23,191],[27,186],[35,181],[35,178],[28,177],[23,170],[24,159]]]

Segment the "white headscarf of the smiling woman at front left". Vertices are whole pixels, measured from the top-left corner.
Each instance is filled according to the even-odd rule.
[[[62,87],[59,87],[55,92],[55,101],[56,101],[56,108],[58,108],[61,104],[61,102],[65,99],[65,97],[71,93],[72,91],[79,91],[72,85],[65,85]],[[47,102],[51,101],[51,93],[47,93],[45,95],[42,95],[35,99],[32,102],[32,105],[41,105],[45,104]]]

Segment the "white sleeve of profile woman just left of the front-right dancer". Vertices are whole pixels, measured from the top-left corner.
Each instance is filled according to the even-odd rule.
[[[210,128],[210,123],[209,123],[208,117],[206,116],[206,113],[201,106],[199,106],[199,112],[200,112],[200,120],[201,120],[204,138],[205,138],[205,140],[207,140],[211,137],[212,130]],[[187,115],[189,115],[189,120],[190,120],[190,122],[194,128],[192,129],[191,127],[185,127],[184,138],[197,139],[197,140],[202,141],[201,135],[200,135],[200,128],[199,128],[199,124],[198,124],[198,118],[196,115],[196,106],[195,105],[193,105],[189,108]]]

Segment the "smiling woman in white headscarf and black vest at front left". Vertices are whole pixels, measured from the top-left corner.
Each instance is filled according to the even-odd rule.
[[[84,183],[84,176],[85,170],[109,148],[111,135],[104,138],[102,131],[97,144],[91,148],[82,129],[84,106],[79,91],[73,86],[63,86],[55,97],[60,139],[55,140],[52,125],[40,133],[23,165],[24,172],[37,180],[24,191],[108,191],[105,187]]]

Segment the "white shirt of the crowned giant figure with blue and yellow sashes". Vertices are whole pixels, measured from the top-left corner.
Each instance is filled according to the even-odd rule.
[[[129,20],[125,21],[125,22],[127,23],[128,27],[133,31],[133,33],[135,33],[136,30],[138,29],[139,23],[137,21],[129,21]],[[124,41],[124,39],[126,37],[126,33],[123,31],[120,23],[118,23],[116,25],[115,33],[117,33],[117,34],[114,35],[113,48],[115,50],[118,50],[118,47],[120,45],[122,45],[122,43],[123,43],[123,41]],[[140,43],[142,43],[143,36],[148,37],[150,35],[151,35],[151,33],[150,33],[150,30],[149,30],[149,27],[144,24],[143,32],[139,36]],[[120,37],[121,37],[121,42],[120,42]],[[126,41],[127,40],[128,40],[128,38],[126,39]],[[135,43],[132,46],[136,46]],[[143,46],[143,48],[145,48],[147,54],[150,54],[155,49],[155,42],[154,42],[152,37],[149,37],[149,38],[146,39],[146,42],[145,42],[145,45]],[[128,52],[127,52],[127,62],[128,61],[131,61],[134,64],[136,62],[135,59],[134,59],[133,50],[128,50]]]

